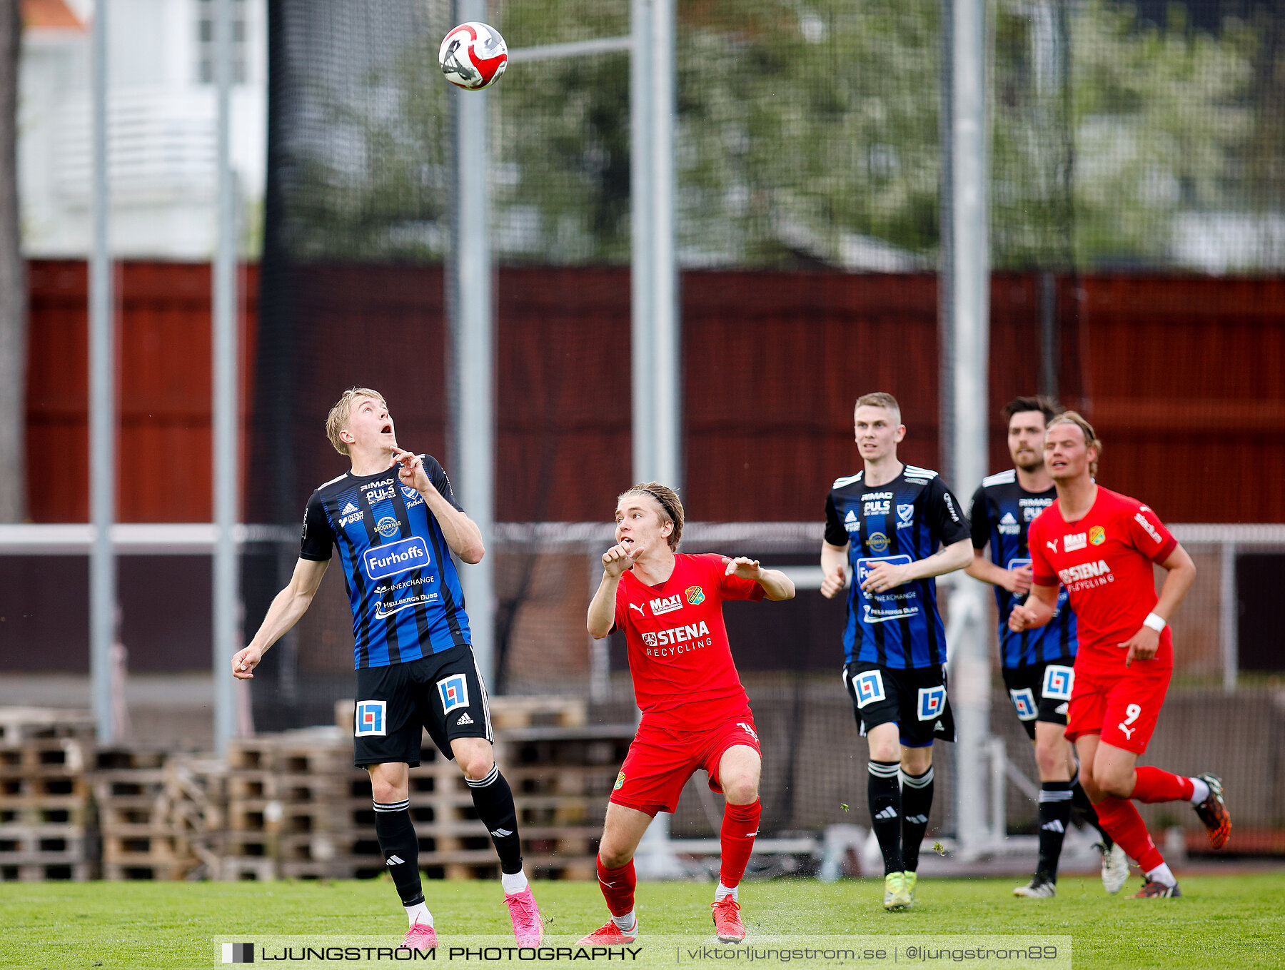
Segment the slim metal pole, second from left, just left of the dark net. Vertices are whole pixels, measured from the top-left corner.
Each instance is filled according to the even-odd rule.
[[[236,734],[235,681],[229,669],[240,649],[240,577],[236,555],[236,186],[231,168],[233,0],[215,0],[217,85],[217,242],[212,274],[213,357],[213,677],[215,745],[220,754]]]

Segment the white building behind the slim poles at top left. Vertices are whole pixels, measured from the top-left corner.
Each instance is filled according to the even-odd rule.
[[[24,0],[18,190],[28,257],[90,251],[91,23],[108,15],[109,245],[208,260],[216,235],[211,0]],[[267,141],[265,0],[233,0],[231,161],[242,251],[257,251]],[[253,240],[251,243],[251,240]]]

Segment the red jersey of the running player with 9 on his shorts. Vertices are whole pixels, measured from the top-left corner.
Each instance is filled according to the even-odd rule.
[[[1076,669],[1124,669],[1123,644],[1142,627],[1156,600],[1151,563],[1169,558],[1178,541],[1148,506],[1097,486],[1078,522],[1061,518],[1060,502],[1045,509],[1027,532],[1032,581],[1059,582],[1070,595],[1078,623]],[[1173,635],[1165,627],[1153,663],[1173,664]]]

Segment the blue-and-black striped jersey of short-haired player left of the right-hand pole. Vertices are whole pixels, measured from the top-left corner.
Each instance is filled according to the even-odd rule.
[[[968,538],[968,523],[935,472],[905,465],[892,482],[873,488],[864,475],[838,479],[825,500],[825,541],[847,545],[852,564],[844,659],[902,669],[943,664],[935,579],[912,579],[875,595],[861,583],[875,563],[912,563]]]

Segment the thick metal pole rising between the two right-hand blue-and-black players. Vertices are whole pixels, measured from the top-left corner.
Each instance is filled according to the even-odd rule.
[[[987,364],[989,338],[989,239],[987,235],[986,0],[951,8],[950,252],[953,402],[948,473],[959,495],[987,472]],[[986,740],[991,719],[991,663],[984,630],[984,590],[960,577],[951,610],[962,610],[955,651],[956,821],[961,854],[975,857],[987,840]],[[992,833],[997,839],[1004,833]]]

